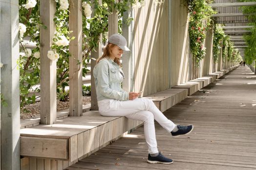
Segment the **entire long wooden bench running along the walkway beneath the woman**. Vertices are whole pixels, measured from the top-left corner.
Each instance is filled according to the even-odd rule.
[[[217,77],[217,74],[213,74],[198,78],[145,98],[151,99],[164,112]],[[40,122],[39,118],[33,120],[37,126],[29,124],[29,120],[22,120],[21,167],[27,166],[28,162],[30,166],[44,160],[44,166],[58,161],[62,164],[60,169],[64,169],[143,123],[125,117],[103,117],[98,111],[85,112],[82,117],[67,117],[68,110],[58,115],[60,118],[66,118],[58,119],[57,123],[52,125],[37,125]]]

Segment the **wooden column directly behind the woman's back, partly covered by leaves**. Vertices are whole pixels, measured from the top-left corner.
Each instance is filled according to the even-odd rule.
[[[93,2],[93,0],[92,0]],[[102,4],[102,0],[99,0],[99,4]],[[94,15],[94,14],[93,14]],[[102,35],[100,35],[100,42],[98,47],[95,48],[95,51],[91,51],[91,58],[98,59],[102,56]],[[93,77],[93,68],[96,65],[96,60],[91,59],[91,110],[99,110],[97,103],[97,95],[96,95],[96,87],[95,87],[95,79]]]

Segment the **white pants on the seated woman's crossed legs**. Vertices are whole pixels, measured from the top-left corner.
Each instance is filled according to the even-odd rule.
[[[149,99],[137,98],[133,101],[106,99],[98,102],[102,116],[125,116],[129,119],[144,121],[144,133],[149,153],[158,153],[154,119],[169,133],[176,126]]]

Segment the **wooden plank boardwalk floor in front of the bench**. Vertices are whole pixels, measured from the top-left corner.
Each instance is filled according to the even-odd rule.
[[[187,136],[172,137],[155,123],[159,150],[171,165],[147,163],[143,127],[66,170],[255,170],[256,75],[239,67],[164,114],[193,124]]]

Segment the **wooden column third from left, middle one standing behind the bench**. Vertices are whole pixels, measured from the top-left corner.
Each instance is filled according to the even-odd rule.
[[[71,54],[69,57],[69,116],[82,116],[82,0],[69,0],[69,2],[69,31],[73,31],[70,36],[75,37],[69,44],[69,52]]]

